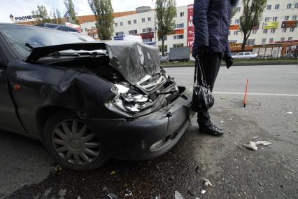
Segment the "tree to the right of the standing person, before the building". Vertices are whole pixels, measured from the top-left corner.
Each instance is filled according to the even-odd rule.
[[[243,0],[243,14],[240,17],[240,29],[243,32],[242,51],[254,27],[260,23],[262,13],[267,5],[267,0]]]

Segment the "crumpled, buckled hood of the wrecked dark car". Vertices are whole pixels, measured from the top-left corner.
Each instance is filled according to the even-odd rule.
[[[106,50],[110,66],[133,85],[144,76],[160,71],[159,50],[136,41],[97,41],[37,47],[32,50],[26,62],[36,62],[41,57],[62,50]]]

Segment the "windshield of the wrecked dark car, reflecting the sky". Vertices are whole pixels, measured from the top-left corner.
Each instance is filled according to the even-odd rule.
[[[62,32],[43,27],[6,25],[1,27],[0,30],[10,47],[23,60],[26,60],[31,50],[36,47],[94,41],[91,37],[83,34]]]

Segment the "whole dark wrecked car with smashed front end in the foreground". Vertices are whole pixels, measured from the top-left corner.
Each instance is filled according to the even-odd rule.
[[[0,128],[41,139],[64,167],[161,156],[190,123],[192,94],[155,47],[24,25],[0,34]]]

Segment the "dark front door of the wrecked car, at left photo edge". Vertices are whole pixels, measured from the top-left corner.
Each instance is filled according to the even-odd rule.
[[[7,66],[0,50],[0,129],[24,133],[8,88]]]

